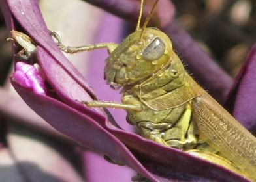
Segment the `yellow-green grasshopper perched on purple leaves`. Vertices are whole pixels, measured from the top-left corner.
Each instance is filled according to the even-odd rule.
[[[182,149],[256,181],[256,139],[229,112],[185,72],[172,42],[159,29],[146,27],[157,5],[140,27],[120,45],[113,43],[67,47],[52,35],[66,53],[106,48],[104,77],[123,87],[122,103],[92,101],[88,107],[127,110],[127,120],[140,135],[159,144]]]

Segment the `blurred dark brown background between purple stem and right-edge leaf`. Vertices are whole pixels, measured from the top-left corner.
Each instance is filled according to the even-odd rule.
[[[172,1],[184,29],[232,77],[255,40],[256,1]]]

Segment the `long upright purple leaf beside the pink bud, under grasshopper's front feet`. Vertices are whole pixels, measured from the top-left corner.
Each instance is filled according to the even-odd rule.
[[[37,1],[7,1],[11,7],[10,10],[22,27],[33,38],[33,40],[42,47],[50,50],[52,56],[48,59],[39,58],[39,64],[44,71],[47,80],[54,88],[63,101],[77,107],[75,100],[89,101],[91,97],[95,98],[93,90],[88,86],[82,75],[74,68],[74,66],[61,53],[59,47],[54,42],[48,29],[42,19]],[[40,51],[38,51],[40,52]],[[40,57],[40,53],[39,53]],[[86,112],[92,117],[102,117],[99,113],[103,113],[100,109],[87,109]]]

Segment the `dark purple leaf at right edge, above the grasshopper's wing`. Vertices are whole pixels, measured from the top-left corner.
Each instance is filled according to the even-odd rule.
[[[238,73],[226,105],[234,117],[253,133],[256,133],[256,44]]]

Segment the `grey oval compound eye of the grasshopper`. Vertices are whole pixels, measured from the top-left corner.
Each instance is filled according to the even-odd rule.
[[[157,60],[165,53],[165,43],[160,38],[155,38],[142,51],[142,57],[146,60]]]

